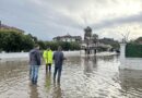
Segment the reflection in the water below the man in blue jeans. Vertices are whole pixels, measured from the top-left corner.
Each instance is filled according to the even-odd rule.
[[[39,98],[38,97],[38,90],[37,90],[37,85],[29,85],[31,88],[31,94],[29,94],[29,98]]]

